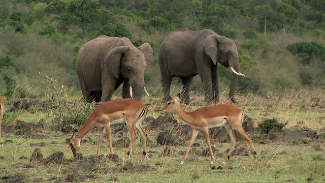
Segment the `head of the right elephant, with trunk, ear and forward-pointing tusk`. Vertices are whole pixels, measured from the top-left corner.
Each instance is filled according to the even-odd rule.
[[[230,88],[230,98],[232,102],[237,103],[235,99],[236,86],[238,81],[238,76],[244,76],[240,73],[238,51],[236,43],[224,36],[217,34],[211,34],[207,36],[204,42],[204,48],[207,55],[209,55],[216,65],[219,62],[224,67],[230,67],[233,72],[233,79]]]

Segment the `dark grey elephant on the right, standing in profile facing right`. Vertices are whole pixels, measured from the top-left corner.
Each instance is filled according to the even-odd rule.
[[[177,29],[169,34],[158,52],[161,83],[164,87],[164,102],[170,99],[170,87],[173,77],[179,77],[183,83],[181,102],[189,102],[190,82],[200,75],[205,90],[205,102],[219,101],[217,62],[230,67],[233,78],[230,98],[236,103],[235,91],[240,73],[239,58],[233,40],[220,36],[210,29],[190,31]]]

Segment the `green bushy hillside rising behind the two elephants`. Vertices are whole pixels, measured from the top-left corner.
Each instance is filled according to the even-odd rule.
[[[246,75],[239,79],[239,93],[266,96],[291,89],[323,90],[324,7],[322,0],[2,0],[0,94],[45,96],[49,89],[45,75],[81,97],[77,52],[104,34],[128,37],[136,46],[150,43],[154,60],[145,81],[151,95],[162,97],[157,52],[177,28],[210,28],[236,42],[241,72]],[[218,68],[221,86],[228,93],[232,73]],[[177,78],[173,83],[181,85]],[[192,90],[202,91],[198,76]]]

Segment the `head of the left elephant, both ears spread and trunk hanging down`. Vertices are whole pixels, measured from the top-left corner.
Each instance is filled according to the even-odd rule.
[[[119,46],[113,48],[105,58],[105,64],[116,78],[122,75],[128,80],[130,95],[141,100],[145,90],[144,72],[152,61],[152,48],[144,43],[139,48]],[[134,94],[134,96],[132,96]],[[147,95],[149,95],[146,92]]]

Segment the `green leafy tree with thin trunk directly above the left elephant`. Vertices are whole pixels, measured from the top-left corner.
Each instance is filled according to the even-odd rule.
[[[99,8],[98,0],[72,0],[60,20],[63,23],[81,27],[84,37],[87,28],[99,24],[101,16]]]

